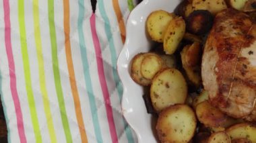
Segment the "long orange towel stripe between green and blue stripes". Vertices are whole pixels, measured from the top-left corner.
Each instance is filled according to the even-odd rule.
[[[79,132],[81,134],[82,142],[88,142],[86,136],[86,130],[84,128],[84,120],[82,117],[80,99],[77,91],[77,86],[75,82],[75,72],[73,69],[73,60],[71,55],[71,46],[69,40],[69,0],[63,0],[64,5],[64,33],[65,33],[65,51],[66,51],[66,58],[67,58],[67,68],[69,70],[69,81],[71,85],[73,100],[75,103],[75,114],[77,117],[77,123],[79,126]]]

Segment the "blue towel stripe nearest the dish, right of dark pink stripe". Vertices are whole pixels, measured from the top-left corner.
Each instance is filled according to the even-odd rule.
[[[117,52],[115,50],[113,34],[110,31],[111,30],[110,22],[109,22],[109,19],[108,19],[107,15],[106,15],[103,0],[98,1],[98,7],[99,7],[99,10],[100,10],[100,14],[102,15],[102,18],[104,19],[104,29],[105,29],[106,37],[108,38],[109,46],[110,46],[111,62],[112,62],[112,66],[113,66],[113,77],[114,77],[115,85],[117,87],[117,92],[119,93],[119,101],[121,103],[121,99],[122,99],[122,96],[123,96],[123,87],[122,87],[120,79],[117,75]],[[129,126],[127,126],[127,122],[125,122],[124,119],[123,119],[123,124],[125,126],[125,134],[127,136],[128,142],[129,143],[134,142],[133,135],[131,133],[131,128],[129,128]]]

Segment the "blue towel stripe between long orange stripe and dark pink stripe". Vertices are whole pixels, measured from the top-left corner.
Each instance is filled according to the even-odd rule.
[[[90,101],[92,122],[94,124],[94,134],[98,142],[103,142],[102,134],[100,132],[100,124],[98,122],[98,113],[97,113],[96,101],[94,97],[94,91],[92,89],[92,79],[90,77],[86,44],[84,42],[84,31],[83,31],[84,0],[79,0],[78,3],[79,3],[79,15],[78,15],[77,28],[78,28],[78,36],[79,36],[79,46],[81,50],[82,63],[84,68],[84,79],[86,81],[86,89],[87,89],[87,93]]]

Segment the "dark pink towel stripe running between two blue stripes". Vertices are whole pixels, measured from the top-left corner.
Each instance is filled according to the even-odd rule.
[[[94,49],[96,52],[96,61],[98,66],[98,77],[100,79],[100,86],[102,89],[103,97],[104,97],[104,104],[106,107],[106,116],[108,117],[108,126],[110,130],[110,135],[112,142],[118,142],[117,139],[117,132],[115,128],[115,122],[113,118],[113,111],[111,107],[111,102],[108,94],[108,87],[106,85],[106,77],[104,75],[104,67],[102,62],[102,54],[101,54],[101,48],[100,48],[100,42],[98,40],[97,32],[96,32],[96,23],[95,23],[95,15],[92,13],[92,16],[90,17],[90,25],[92,30],[92,39],[94,41]]]

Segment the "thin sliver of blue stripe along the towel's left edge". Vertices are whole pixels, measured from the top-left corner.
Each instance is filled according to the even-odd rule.
[[[11,78],[11,77],[9,77],[9,78]],[[3,100],[3,89],[2,89],[3,81],[2,81],[2,79],[3,79],[3,77],[1,74],[1,70],[0,70],[0,97],[1,97],[1,101],[2,101],[3,114],[5,115],[5,124],[7,127],[7,141],[11,142],[11,136],[10,136],[11,130],[9,130],[9,118],[7,117],[6,105],[5,105],[5,101]]]

